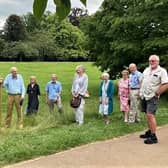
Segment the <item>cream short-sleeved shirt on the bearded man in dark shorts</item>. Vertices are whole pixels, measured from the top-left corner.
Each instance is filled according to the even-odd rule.
[[[146,68],[142,76],[140,96],[146,100],[150,100],[155,96],[159,87],[165,83],[168,83],[168,75],[164,68],[160,66],[155,70],[151,70],[150,67]]]

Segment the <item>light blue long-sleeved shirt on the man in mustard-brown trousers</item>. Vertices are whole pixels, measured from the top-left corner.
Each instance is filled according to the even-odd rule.
[[[17,74],[16,78],[13,78],[12,74],[8,74],[3,86],[7,89],[8,94],[21,94],[21,97],[24,98],[25,86],[20,74]]]

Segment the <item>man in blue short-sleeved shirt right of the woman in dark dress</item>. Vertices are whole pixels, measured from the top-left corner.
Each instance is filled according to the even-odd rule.
[[[62,103],[61,103],[61,91],[62,86],[59,81],[57,81],[57,75],[51,75],[51,81],[47,83],[45,87],[46,91],[46,103],[49,106],[50,112],[54,110],[54,104],[57,105],[58,111],[62,112]]]

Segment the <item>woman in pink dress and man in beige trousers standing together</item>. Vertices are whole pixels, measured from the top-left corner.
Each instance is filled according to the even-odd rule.
[[[129,75],[130,71],[130,75]],[[120,111],[124,114],[124,122],[140,122],[140,85],[142,73],[137,70],[136,64],[129,65],[129,71],[122,71],[122,78],[118,83],[118,97]]]

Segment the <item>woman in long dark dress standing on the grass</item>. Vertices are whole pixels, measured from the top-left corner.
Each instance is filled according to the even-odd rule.
[[[30,83],[27,86],[28,104],[26,114],[36,114],[39,107],[40,87],[36,83],[36,77],[30,77]]]

